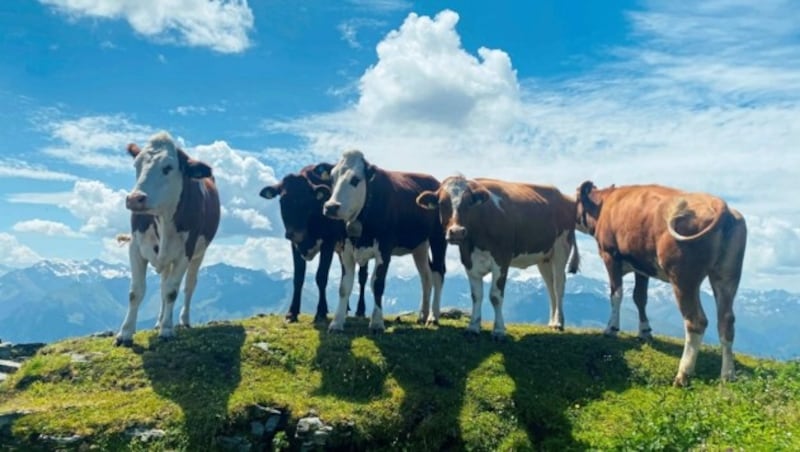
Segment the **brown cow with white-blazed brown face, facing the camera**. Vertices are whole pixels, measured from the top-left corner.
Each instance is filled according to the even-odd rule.
[[[483,277],[492,274],[489,299],[494,307],[492,336],[505,336],[503,294],[509,267],[537,265],[550,295],[549,326],[563,330],[562,301],[567,260],[578,269],[575,201],[554,187],[495,179],[448,177],[417,203],[439,210],[447,241],[458,245],[472,292],[467,331],[480,331]]]

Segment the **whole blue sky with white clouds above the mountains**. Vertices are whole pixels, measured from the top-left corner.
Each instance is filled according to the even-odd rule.
[[[779,0],[0,2],[0,265],[124,262],[125,145],[164,129],[214,166],[209,263],[288,270],[259,189],[359,148],[442,178],[718,194],[748,220],[743,285],[798,291],[798,23]]]

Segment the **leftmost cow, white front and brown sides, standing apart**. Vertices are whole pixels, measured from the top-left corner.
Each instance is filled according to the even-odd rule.
[[[159,337],[174,335],[172,311],[184,274],[180,325],[189,326],[197,272],[220,218],[211,168],[186,155],[169,134],[153,135],[143,149],[130,144],[128,153],[136,167],[136,184],[125,200],[131,211],[131,289],[117,345],[133,343],[148,263],[161,275],[161,312],[156,323]]]

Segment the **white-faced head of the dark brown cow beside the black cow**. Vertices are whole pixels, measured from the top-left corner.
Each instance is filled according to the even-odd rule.
[[[347,151],[331,170],[330,199],[323,206],[329,218],[352,222],[367,202],[367,183],[375,176],[361,151]]]

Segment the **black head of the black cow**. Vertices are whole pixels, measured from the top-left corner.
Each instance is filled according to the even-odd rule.
[[[330,194],[326,184],[330,183],[333,165],[319,163],[307,166],[299,174],[289,174],[275,185],[261,189],[264,199],[280,197],[281,220],[286,229],[286,238],[306,256],[316,247],[316,238],[309,235],[309,226],[314,217],[321,217],[322,203]],[[313,258],[313,253],[310,255]]]

